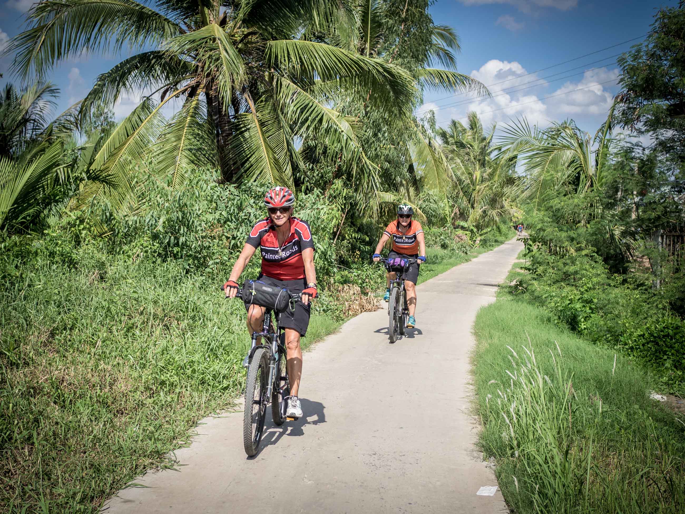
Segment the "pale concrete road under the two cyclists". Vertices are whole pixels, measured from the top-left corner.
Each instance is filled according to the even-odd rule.
[[[388,341],[387,309],[351,319],[304,356],[305,417],[247,458],[242,411],[203,420],[177,470],[120,491],[108,513],[502,513],[475,448],[469,351],[477,310],[494,301],[523,248],[514,239],[421,284],[418,327]]]

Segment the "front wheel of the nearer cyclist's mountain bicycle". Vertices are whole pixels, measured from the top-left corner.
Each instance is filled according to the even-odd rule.
[[[269,380],[269,352],[259,348],[252,356],[245,387],[245,413],[242,417],[242,442],[248,456],[257,454],[266,417],[266,382]]]

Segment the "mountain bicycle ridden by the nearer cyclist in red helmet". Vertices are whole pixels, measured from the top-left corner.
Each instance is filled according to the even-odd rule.
[[[221,286],[221,291],[223,291]],[[240,299],[242,289],[238,289],[236,298]],[[300,293],[290,293],[290,299],[299,300]],[[294,421],[295,417],[286,418],[288,408],[286,398],[290,396],[290,381],[286,367],[286,332],[278,324],[280,313],[264,311],[262,332],[252,332],[252,343],[249,352],[242,360],[242,367],[247,368],[245,384],[245,409],[242,416],[242,443],[245,453],[254,456],[264,432],[266,406],[271,401],[271,417],[278,426],[284,421]],[[275,320],[275,328],[273,321]],[[261,344],[257,339],[262,338]]]

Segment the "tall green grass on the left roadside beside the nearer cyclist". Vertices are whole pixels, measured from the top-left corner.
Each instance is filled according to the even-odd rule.
[[[229,408],[245,309],[173,262],[42,261],[1,288],[0,510],[92,512]],[[306,341],[339,323],[312,317]]]

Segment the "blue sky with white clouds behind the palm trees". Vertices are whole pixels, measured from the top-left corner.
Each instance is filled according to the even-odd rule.
[[[532,72],[643,36],[656,9],[676,3],[677,0],[438,0],[430,9],[434,21],[455,27],[461,38],[459,71],[488,86],[507,82],[490,87],[493,95],[497,95],[490,99],[429,92],[420,111],[433,108],[439,125],[446,125],[451,118],[463,119],[466,112],[475,110],[488,125],[521,116],[541,125],[547,125],[549,120],[572,118],[584,130],[594,132],[606,119],[612,97],[618,91],[618,71],[611,56],[627,50],[637,40]],[[23,13],[31,4],[32,0],[0,0],[0,49],[8,38],[21,32]],[[116,56],[84,56],[55,69],[51,80],[62,90],[60,110],[84,97],[98,73],[116,62]],[[0,81],[12,79],[9,64],[10,58],[0,59],[0,73],[4,75]],[[549,75],[554,76],[531,82]],[[579,88],[582,90],[575,91]],[[550,95],[557,96],[544,98]],[[127,114],[138,101],[138,95],[124,97],[114,108],[115,114]]]

